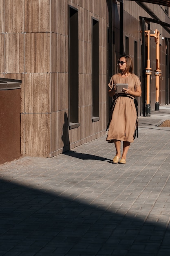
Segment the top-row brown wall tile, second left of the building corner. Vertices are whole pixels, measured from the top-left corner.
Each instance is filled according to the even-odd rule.
[[[4,31],[7,33],[24,32],[24,0],[4,1]]]

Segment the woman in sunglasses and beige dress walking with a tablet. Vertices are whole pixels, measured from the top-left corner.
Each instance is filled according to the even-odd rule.
[[[113,106],[110,112],[110,123],[106,141],[114,142],[116,155],[113,163],[126,164],[126,155],[130,143],[134,141],[137,129],[137,101],[135,97],[141,97],[141,82],[132,73],[132,58],[122,55],[117,62],[120,73],[115,74],[108,84],[108,94],[113,97]],[[122,94],[116,93],[117,83],[127,83],[128,89],[122,89]],[[123,141],[123,153],[121,155],[121,141]]]

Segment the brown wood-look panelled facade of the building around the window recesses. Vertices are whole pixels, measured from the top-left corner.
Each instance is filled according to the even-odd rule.
[[[117,72],[120,45],[137,59],[141,79],[141,24],[151,18],[135,1],[124,2],[123,31],[120,4],[113,0],[113,70]],[[146,5],[169,18],[159,6]],[[69,129],[69,8],[78,12],[78,123]],[[106,133],[108,112],[108,1],[106,0],[0,0],[0,76],[21,79],[21,153],[53,157]],[[92,121],[92,19],[99,22],[99,120]],[[170,23],[170,22],[169,22]],[[151,24],[152,32],[161,25]],[[123,33],[123,42],[120,42]],[[152,38],[153,39],[153,38]],[[151,40],[151,65],[155,70],[155,43]],[[134,44],[137,43],[136,52]],[[161,41],[161,70],[165,73],[166,45]],[[135,56],[137,54],[137,57]],[[163,74],[163,79],[165,74]],[[155,104],[155,76],[151,81],[151,106]],[[161,81],[160,104],[165,103]],[[140,108],[140,107],[139,107]]]

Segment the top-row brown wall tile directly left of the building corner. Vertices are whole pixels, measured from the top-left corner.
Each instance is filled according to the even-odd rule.
[[[24,32],[50,32],[50,0],[24,0]]]

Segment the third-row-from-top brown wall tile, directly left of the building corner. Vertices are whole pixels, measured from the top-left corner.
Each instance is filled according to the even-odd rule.
[[[25,112],[50,111],[50,74],[25,74]]]

